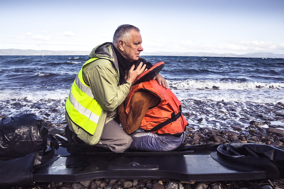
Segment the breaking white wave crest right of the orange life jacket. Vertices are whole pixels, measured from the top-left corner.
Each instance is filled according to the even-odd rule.
[[[284,83],[261,83],[261,82],[226,82],[212,80],[187,79],[183,81],[168,80],[168,84],[178,89],[218,89],[218,90],[256,90],[277,89],[284,90]]]

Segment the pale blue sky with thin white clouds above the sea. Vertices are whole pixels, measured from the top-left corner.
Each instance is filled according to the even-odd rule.
[[[284,53],[284,0],[2,0],[0,49],[91,51],[122,24],[141,55]]]

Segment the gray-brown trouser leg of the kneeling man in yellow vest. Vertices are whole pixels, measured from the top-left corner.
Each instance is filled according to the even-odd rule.
[[[129,148],[132,141],[131,136],[126,134],[116,121],[110,120],[105,124],[100,140],[102,144],[96,144],[95,146],[122,153]]]

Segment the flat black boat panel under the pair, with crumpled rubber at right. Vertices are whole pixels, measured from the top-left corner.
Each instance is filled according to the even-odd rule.
[[[277,146],[229,143],[195,145],[170,152],[114,153],[89,145],[61,145],[46,165],[34,169],[34,182],[78,182],[97,178],[225,181],[280,179],[284,150]],[[282,177],[281,177],[282,176]]]

